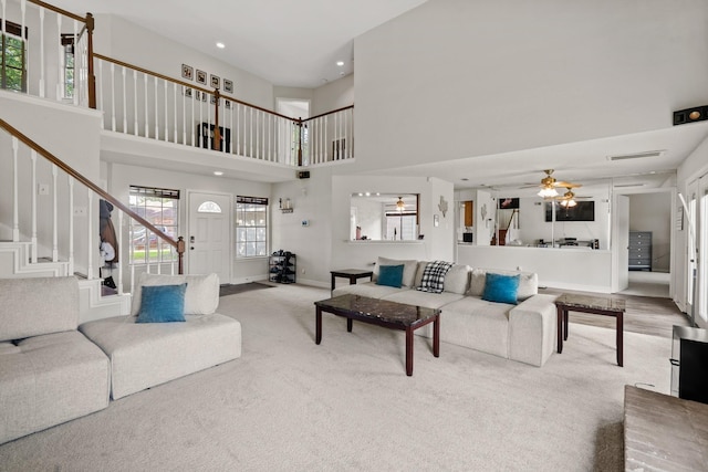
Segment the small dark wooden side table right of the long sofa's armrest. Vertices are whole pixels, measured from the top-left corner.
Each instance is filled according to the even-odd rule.
[[[617,319],[616,345],[617,365],[623,366],[624,350],[624,300],[605,296],[563,294],[555,300],[558,311],[558,352],[563,352],[563,340],[568,339],[568,312],[614,316]]]

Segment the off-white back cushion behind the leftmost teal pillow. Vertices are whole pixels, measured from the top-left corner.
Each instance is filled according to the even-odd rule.
[[[142,287],[145,285],[181,285],[187,283],[185,291],[185,315],[208,315],[219,306],[219,276],[208,275],[163,275],[143,272],[138,277],[133,294],[132,315],[140,311]]]

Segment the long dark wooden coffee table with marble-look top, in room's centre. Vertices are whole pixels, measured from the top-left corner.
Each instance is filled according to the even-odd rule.
[[[406,375],[413,375],[413,332],[433,323],[433,355],[440,357],[440,310],[407,305],[360,295],[341,295],[314,303],[315,343],[322,342],[322,313],[344,316],[346,331],[352,332],[354,319],[389,329],[406,332]]]

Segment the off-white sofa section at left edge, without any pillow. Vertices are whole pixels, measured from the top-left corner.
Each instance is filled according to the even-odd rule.
[[[108,359],[76,331],[79,305],[74,277],[0,279],[0,443],[108,406]]]

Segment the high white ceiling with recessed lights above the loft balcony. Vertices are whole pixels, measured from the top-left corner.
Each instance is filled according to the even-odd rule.
[[[426,0],[53,0],[112,13],[266,78],[317,87],[354,71],[354,38]],[[223,49],[216,46],[225,44]],[[344,64],[337,66],[342,61]]]

